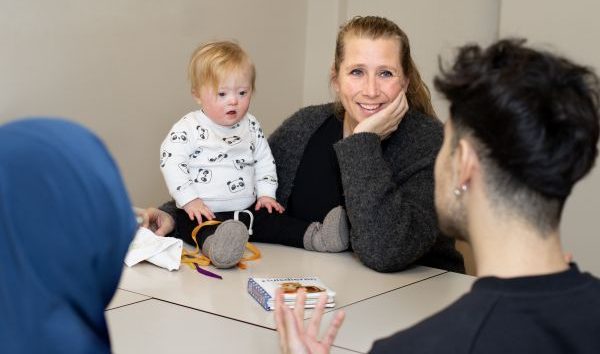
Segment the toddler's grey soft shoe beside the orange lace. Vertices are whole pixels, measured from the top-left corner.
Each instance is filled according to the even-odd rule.
[[[248,229],[241,221],[224,221],[214,234],[206,238],[202,253],[215,267],[231,268],[244,256],[248,237]]]

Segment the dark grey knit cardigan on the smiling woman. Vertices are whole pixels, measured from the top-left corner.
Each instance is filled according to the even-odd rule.
[[[287,206],[306,144],[333,109],[333,104],[303,108],[269,137],[282,205]],[[437,119],[410,110],[383,143],[376,134],[360,133],[334,145],[351,246],[367,267],[395,272],[418,263],[464,272],[454,241],[438,231],[433,205],[433,166],[442,141]]]

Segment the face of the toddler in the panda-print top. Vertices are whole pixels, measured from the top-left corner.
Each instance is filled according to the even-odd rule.
[[[250,106],[252,82],[248,70],[229,74],[219,82],[217,92],[211,85],[203,85],[196,94],[202,111],[213,122],[232,126],[244,118]]]

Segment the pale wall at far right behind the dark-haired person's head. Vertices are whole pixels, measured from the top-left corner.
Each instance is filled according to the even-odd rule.
[[[561,53],[600,73],[600,3],[593,0],[503,0],[502,37]],[[577,156],[573,156],[577,158]],[[596,165],[600,162],[596,161]],[[580,268],[600,276],[600,169],[596,166],[567,201],[561,225],[566,250]]]

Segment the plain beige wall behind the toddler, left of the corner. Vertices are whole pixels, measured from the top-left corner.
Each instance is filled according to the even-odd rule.
[[[257,68],[251,107],[265,131],[302,104],[306,3],[293,0],[0,0],[0,123],[56,115],[106,141],[133,202],[168,198],[158,150],[195,108],[195,47],[237,39]]]

